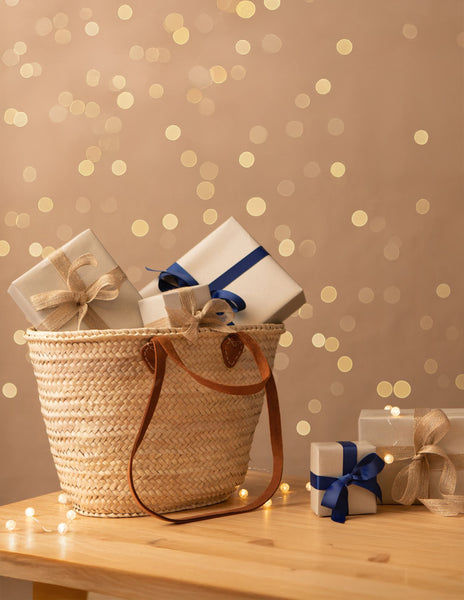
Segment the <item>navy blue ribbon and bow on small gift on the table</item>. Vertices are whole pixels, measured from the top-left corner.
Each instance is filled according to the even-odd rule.
[[[326,477],[310,474],[311,486],[316,490],[326,490],[322,506],[332,509],[332,521],[344,523],[348,514],[348,486],[358,485],[369,490],[382,502],[382,491],[377,483],[377,475],[385,466],[384,461],[372,452],[358,463],[357,448],[353,442],[338,442],[343,446],[343,475]]]

